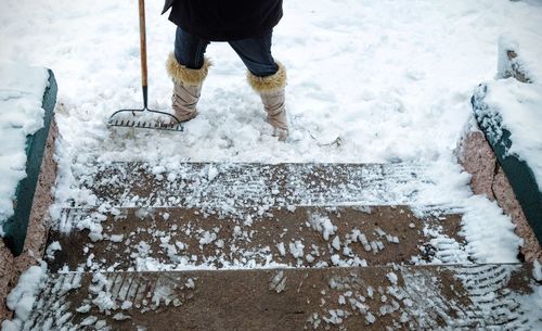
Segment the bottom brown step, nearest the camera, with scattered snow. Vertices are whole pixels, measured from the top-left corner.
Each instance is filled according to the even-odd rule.
[[[519,264],[67,272],[46,278],[23,329],[535,330],[530,275]]]

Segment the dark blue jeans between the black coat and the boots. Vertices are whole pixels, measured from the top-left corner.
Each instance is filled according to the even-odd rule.
[[[225,0],[224,0],[225,1]],[[248,71],[258,77],[266,77],[275,74],[279,66],[271,55],[271,39],[273,33],[260,38],[229,41],[233,50],[240,55]],[[204,54],[209,40],[191,35],[180,27],[177,27],[175,37],[175,56],[179,64],[188,68],[198,69],[203,66]]]

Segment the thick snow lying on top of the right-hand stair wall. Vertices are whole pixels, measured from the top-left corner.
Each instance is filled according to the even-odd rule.
[[[508,51],[517,56],[508,59]],[[496,78],[509,77],[513,71],[531,84],[515,79],[489,82],[485,102],[488,112],[499,114],[502,128],[511,131],[509,153],[527,162],[542,191],[542,35],[540,30],[503,34],[499,38]]]

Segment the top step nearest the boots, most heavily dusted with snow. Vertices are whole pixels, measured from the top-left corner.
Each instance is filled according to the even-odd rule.
[[[115,163],[86,168],[78,180],[89,190],[85,202],[96,206],[232,212],[269,205],[413,204],[424,189],[434,189],[426,170],[422,164]]]

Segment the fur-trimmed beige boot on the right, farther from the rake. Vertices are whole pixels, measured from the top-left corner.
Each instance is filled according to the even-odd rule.
[[[275,137],[284,141],[288,137],[288,119],[285,107],[286,68],[279,62],[279,71],[266,77],[248,73],[248,82],[261,97],[263,107],[268,113],[268,123],[273,126]]]

